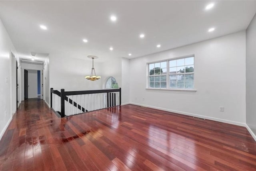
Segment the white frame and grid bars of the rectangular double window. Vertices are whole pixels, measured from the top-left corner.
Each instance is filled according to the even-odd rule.
[[[176,74],[170,74],[170,65],[169,65],[169,61],[172,61],[172,60],[177,60],[177,59],[185,59],[185,58],[189,58],[189,57],[194,57],[194,72],[192,73],[188,73],[188,74],[194,74],[194,89],[188,89],[188,88],[169,88],[169,84],[170,84],[170,75],[186,75],[186,73],[176,73]],[[153,87],[150,87],[149,86],[149,65],[150,64],[153,64],[153,63],[160,63],[160,62],[166,62],[166,88],[153,88]],[[196,89],[195,89],[195,55],[192,54],[192,55],[186,55],[186,56],[181,56],[181,57],[175,57],[175,58],[170,58],[170,59],[164,59],[164,60],[161,60],[161,61],[154,61],[154,62],[150,62],[150,63],[146,63],[147,67],[146,67],[146,89],[152,89],[152,90],[178,90],[178,91],[192,91],[192,92],[196,92]],[[184,64],[184,67],[186,67],[187,65]],[[156,75],[154,75],[156,76]],[[159,75],[160,76],[160,75]]]

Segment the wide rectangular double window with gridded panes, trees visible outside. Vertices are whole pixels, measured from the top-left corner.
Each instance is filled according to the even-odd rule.
[[[149,88],[194,89],[194,56],[150,63],[148,69]]]

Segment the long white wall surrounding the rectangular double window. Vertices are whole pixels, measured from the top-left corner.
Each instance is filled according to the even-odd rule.
[[[194,54],[196,92],[146,89],[146,63]],[[130,102],[244,125],[245,31],[130,60]],[[144,97],[145,100],[142,100]],[[137,99],[137,100],[136,100]],[[224,112],[219,111],[224,106]]]

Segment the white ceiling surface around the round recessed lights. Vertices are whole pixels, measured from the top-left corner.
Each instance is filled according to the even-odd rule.
[[[210,2],[215,6],[206,11]],[[96,55],[99,62],[140,57],[241,31],[255,12],[256,1],[246,0],[0,1],[0,18],[21,58],[30,57],[30,52],[49,53],[50,58],[67,52],[86,59]],[[112,14],[116,22],[110,20]],[[40,29],[40,24],[48,30]],[[208,32],[211,27],[215,31]]]

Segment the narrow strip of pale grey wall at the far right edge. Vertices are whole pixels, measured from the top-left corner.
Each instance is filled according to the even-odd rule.
[[[246,124],[256,140],[256,15],[246,29]]]

